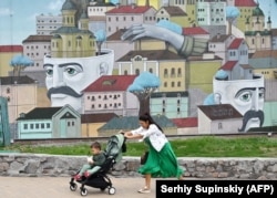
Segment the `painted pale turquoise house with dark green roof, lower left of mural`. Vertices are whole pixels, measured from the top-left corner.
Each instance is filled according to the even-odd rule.
[[[20,114],[18,138],[81,137],[81,115],[70,105],[62,107],[37,107]]]

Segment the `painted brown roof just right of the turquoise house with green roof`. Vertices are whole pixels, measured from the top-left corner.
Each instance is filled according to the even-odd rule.
[[[119,117],[115,113],[82,114],[81,123],[106,123],[113,117]]]

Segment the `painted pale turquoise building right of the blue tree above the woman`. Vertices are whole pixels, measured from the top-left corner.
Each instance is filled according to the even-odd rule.
[[[151,115],[165,115],[168,118],[188,116],[187,92],[154,92],[150,97]]]

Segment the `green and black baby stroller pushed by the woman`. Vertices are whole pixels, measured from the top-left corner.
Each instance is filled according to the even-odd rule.
[[[122,153],[126,152],[125,140],[126,139],[123,134],[113,135],[109,138],[106,148],[104,149],[104,154],[106,156],[105,163],[96,173],[90,175],[88,178],[82,177],[81,180],[76,180],[76,183],[81,184],[81,196],[88,195],[88,189],[85,188],[85,186],[100,188],[101,191],[109,189],[109,195],[115,194],[115,188],[112,186],[112,181],[106,174],[114,164],[119,163],[122,159]],[[76,174],[79,174],[79,171]],[[72,191],[76,190],[76,183],[73,175],[70,180],[70,189]]]

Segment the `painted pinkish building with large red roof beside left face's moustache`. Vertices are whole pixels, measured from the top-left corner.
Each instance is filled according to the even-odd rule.
[[[136,75],[103,75],[83,91],[83,114],[115,113],[121,116],[138,114],[137,97],[127,92]]]

